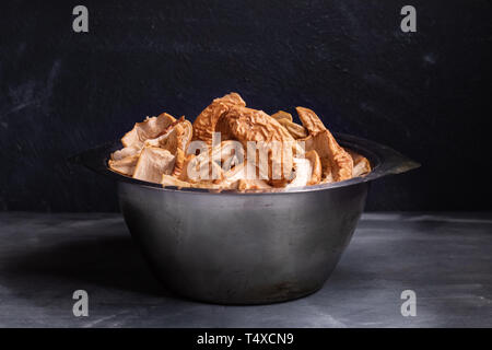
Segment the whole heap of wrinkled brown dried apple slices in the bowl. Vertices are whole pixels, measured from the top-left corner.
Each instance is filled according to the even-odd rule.
[[[370,162],[341,148],[313,110],[296,110],[302,126],[283,110],[269,116],[246,108],[243,98],[231,93],[215,98],[192,125],[163,113],[137,122],[121,139],[124,148],[110,155],[108,167],[163,186],[219,191],[277,191],[371,172]],[[219,144],[212,144],[214,132],[221,135]]]

